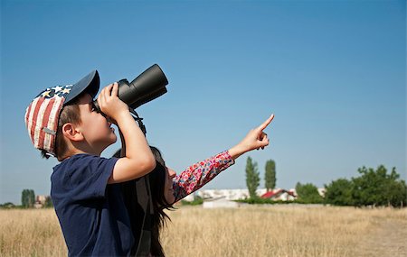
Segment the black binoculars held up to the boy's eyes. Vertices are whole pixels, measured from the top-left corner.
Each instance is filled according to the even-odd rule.
[[[168,80],[161,68],[154,64],[128,83],[128,79],[118,81],[118,98],[131,109],[136,109],[158,96],[166,94]],[[93,105],[100,111],[98,101]]]

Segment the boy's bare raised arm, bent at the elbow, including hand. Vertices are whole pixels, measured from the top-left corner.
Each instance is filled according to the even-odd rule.
[[[118,83],[102,89],[98,96],[100,110],[118,125],[126,142],[126,155],[118,159],[108,183],[137,179],[156,167],[156,159],[144,133],[135,123],[128,106],[118,98]]]

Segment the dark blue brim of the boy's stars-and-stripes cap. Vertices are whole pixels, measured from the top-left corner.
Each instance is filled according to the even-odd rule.
[[[90,74],[81,78],[80,81],[73,84],[71,92],[65,97],[63,105],[69,104],[75,97],[79,96],[83,92],[87,92],[90,96],[95,97],[99,92],[100,78],[98,70],[93,70]]]

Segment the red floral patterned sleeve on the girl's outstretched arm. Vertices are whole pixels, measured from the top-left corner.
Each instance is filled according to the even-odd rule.
[[[234,164],[229,151],[196,162],[173,179],[175,202],[188,196]]]

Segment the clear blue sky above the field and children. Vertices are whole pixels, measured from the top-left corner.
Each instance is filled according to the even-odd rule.
[[[157,63],[168,93],[137,109],[167,165],[232,147],[271,113],[270,147],[204,188],[246,188],[248,156],[277,186],[323,187],[362,166],[406,177],[405,1],[1,1],[0,203],[49,194],[24,111],[98,69],[101,86]],[[104,152],[109,156],[118,144]]]

